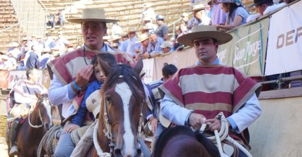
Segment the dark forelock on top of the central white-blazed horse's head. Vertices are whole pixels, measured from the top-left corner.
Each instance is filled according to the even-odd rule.
[[[107,79],[102,86],[103,91],[115,84],[120,78],[122,78],[129,85],[134,96],[136,99],[138,99],[140,96],[135,87],[138,87],[138,89],[144,91],[143,83],[140,80],[139,75],[132,70],[131,66],[126,64],[117,64],[111,68],[110,73],[107,75]]]

